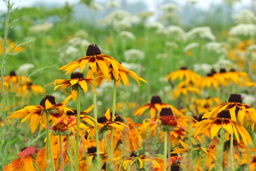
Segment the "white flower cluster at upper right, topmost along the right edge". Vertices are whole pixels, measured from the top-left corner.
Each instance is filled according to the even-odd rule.
[[[250,10],[242,10],[238,14],[234,14],[232,18],[235,20],[236,23],[255,23],[256,18],[253,12]]]

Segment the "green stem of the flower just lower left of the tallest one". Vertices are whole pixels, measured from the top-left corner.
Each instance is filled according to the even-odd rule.
[[[78,153],[79,153],[79,129],[80,129],[80,92],[79,88],[77,89],[77,133],[76,133],[76,171],[78,171]]]

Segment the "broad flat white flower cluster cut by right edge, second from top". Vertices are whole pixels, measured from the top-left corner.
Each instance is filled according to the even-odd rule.
[[[255,24],[238,24],[230,29],[229,34],[232,36],[255,36]]]

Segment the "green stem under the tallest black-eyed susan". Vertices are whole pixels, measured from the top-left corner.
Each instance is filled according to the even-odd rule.
[[[94,89],[96,89],[96,85],[93,85]],[[96,99],[96,93],[93,92],[93,110],[94,110],[94,119],[95,119],[95,139],[96,139],[96,148],[97,148],[97,167],[99,167],[99,163],[100,163],[100,145],[99,145],[99,135],[98,135],[98,122],[97,122],[97,99]],[[98,169],[97,169],[98,170]]]

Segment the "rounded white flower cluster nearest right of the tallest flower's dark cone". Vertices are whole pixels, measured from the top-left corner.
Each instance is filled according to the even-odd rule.
[[[130,49],[124,52],[126,62],[138,62],[145,58],[145,53],[138,49]]]

